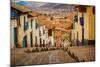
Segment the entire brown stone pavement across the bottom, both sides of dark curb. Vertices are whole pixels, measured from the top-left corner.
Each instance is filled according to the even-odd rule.
[[[25,48],[11,49],[11,65],[73,63],[77,62],[75,57],[78,57],[78,61],[95,61],[94,46],[72,46],[67,50],[56,49],[31,53],[27,53],[25,50]]]

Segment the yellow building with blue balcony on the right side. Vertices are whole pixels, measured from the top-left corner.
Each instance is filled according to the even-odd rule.
[[[73,45],[95,44],[95,7],[76,6],[72,29]]]

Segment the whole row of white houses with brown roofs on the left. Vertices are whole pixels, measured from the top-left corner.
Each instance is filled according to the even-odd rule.
[[[19,4],[11,4],[11,48],[54,45],[53,27],[45,17]]]

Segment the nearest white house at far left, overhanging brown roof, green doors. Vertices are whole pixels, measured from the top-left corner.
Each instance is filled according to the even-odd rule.
[[[28,28],[27,16],[31,12],[25,6],[11,4],[11,47],[27,47],[27,35],[24,34]]]

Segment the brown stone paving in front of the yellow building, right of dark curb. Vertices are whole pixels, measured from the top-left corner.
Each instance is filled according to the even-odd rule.
[[[95,61],[95,46],[73,46],[68,51],[77,56],[79,61]]]

